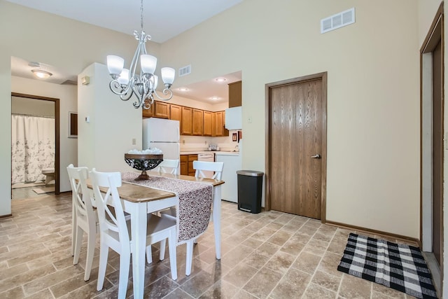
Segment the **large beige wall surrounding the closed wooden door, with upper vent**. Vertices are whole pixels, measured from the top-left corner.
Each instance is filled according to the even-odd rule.
[[[352,7],[355,24],[320,34],[321,18]],[[327,220],[418,238],[416,20],[416,0],[245,0],[161,53],[192,64],[180,85],[242,71],[243,168],[261,171],[265,84],[328,71]]]

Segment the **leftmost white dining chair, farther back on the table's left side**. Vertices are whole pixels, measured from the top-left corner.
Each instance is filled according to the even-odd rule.
[[[90,278],[93,254],[97,239],[98,216],[92,204],[92,196],[85,180],[89,174],[87,167],[67,167],[72,196],[72,251],[73,265],[78,264],[84,232],[87,234],[87,257],[85,258],[84,280]]]

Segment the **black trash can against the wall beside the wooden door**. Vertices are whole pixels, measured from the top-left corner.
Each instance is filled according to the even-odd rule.
[[[261,211],[263,172],[238,170],[238,209],[253,214]]]

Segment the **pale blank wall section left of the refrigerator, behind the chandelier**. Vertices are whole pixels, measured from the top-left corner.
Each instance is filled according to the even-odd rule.
[[[90,76],[90,84],[80,78]],[[133,171],[125,162],[125,153],[141,150],[141,109],[120,100],[109,90],[106,65],[94,63],[78,76],[78,162],[99,172]],[[88,116],[89,123],[85,121]],[[132,144],[135,139],[136,144]]]

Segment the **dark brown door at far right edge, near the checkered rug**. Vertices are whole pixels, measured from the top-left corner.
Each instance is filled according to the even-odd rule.
[[[443,244],[443,65],[442,43],[433,50],[433,253],[442,264]]]

